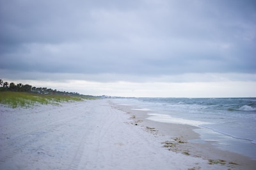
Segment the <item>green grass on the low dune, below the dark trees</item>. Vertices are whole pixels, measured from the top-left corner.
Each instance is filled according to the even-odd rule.
[[[71,97],[65,95],[40,95],[25,92],[0,92],[0,103],[9,107],[30,107],[35,104],[53,104],[58,105],[60,102],[81,101],[84,97]],[[85,98],[90,99],[90,98]]]

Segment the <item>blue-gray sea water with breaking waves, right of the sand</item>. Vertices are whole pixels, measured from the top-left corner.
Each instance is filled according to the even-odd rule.
[[[130,104],[153,111],[148,119],[193,125],[200,139],[256,160],[256,98],[122,98]],[[136,109],[136,108],[135,108]]]

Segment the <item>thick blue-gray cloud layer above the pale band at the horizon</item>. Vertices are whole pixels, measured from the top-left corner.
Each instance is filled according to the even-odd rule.
[[[256,73],[253,1],[0,1],[0,20],[3,70]]]

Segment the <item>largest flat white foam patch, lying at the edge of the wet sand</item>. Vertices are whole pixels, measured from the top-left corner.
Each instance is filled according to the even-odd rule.
[[[205,125],[205,124],[211,124],[209,122],[205,121],[196,121],[196,120],[185,120],[182,118],[173,118],[172,116],[169,116],[167,114],[148,114],[150,115],[148,120],[152,121],[159,121],[163,123],[177,123],[177,124],[184,124],[184,125],[191,125],[195,127],[199,127],[200,125]]]

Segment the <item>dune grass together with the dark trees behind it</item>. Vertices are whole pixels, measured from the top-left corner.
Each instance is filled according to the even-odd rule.
[[[83,99],[96,99],[89,95],[80,95],[79,93],[70,93],[66,91],[57,91],[51,88],[36,88],[29,84],[15,84],[13,82],[4,82],[0,79],[0,104],[9,107],[29,107],[35,104],[54,104],[60,102],[81,101]]]

